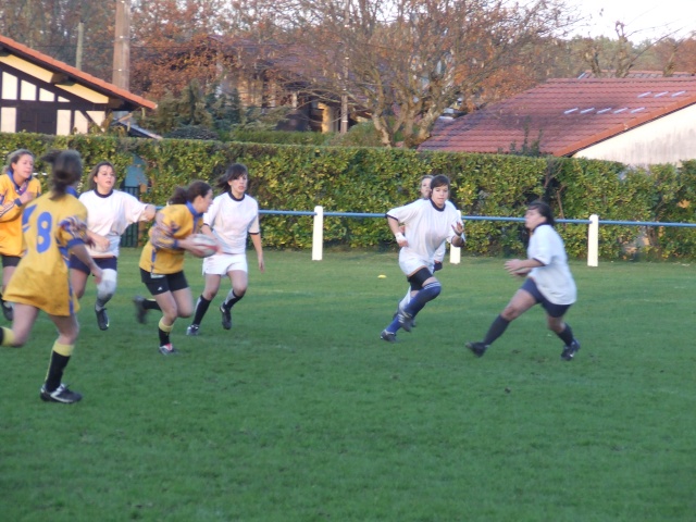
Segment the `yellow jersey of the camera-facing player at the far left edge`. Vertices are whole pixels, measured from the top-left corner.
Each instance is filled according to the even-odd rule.
[[[30,177],[22,185],[14,183],[10,173],[0,175],[0,254],[22,256],[22,210],[16,200],[24,192],[32,192],[37,198],[41,194],[41,184]]]

